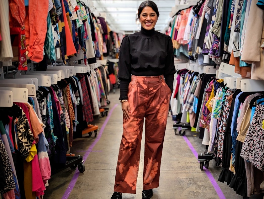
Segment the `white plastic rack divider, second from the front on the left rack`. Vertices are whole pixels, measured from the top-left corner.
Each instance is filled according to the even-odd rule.
[[[26,88],[0,87],[0,90],[12,91],[14,93],[13,102],[28,102],[29,90]]]

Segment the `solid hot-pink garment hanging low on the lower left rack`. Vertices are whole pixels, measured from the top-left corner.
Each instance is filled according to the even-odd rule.
[[[34,159],[31,161],[32,163],[32,191],[36,192],[36,196],[44,195],[45,185],[42,180],[41,172],[40,172],[40,164],[38,159],[38,154],[34,156]]]

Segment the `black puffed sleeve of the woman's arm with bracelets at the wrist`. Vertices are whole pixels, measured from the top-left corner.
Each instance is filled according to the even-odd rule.
[[[131,81],[131,55],[130,55],[130,40],[125,36],[119,52],[118,61],[118,78],[120,80],[120,98],[119,100],[127,99],[128,85]]]

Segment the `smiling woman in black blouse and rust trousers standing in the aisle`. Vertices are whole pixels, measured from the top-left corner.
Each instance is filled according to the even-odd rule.
[[[159,186],[162,146],[176,71],[171,38],[154,29],[158,17],[154,2],[141,3],[138,9],[141,31],[125,36],[120,47],[118,78],[123,136],[111,199],[122,198],[122,193],[136,193],[144,118],[142,198],[151,198],[152,189]]]

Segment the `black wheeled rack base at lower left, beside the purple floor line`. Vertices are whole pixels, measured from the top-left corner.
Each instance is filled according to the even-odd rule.
[[[51,170],[51,175],[54,175],[68,167],[70,167],[71,169],[76,169],[78,167],[78,170],[80,173],[83,173],[85,171],[85,166],[83,164],[83,159],[81,155],[75,155],[75,154],[69,154],[66,155],[66,164],[64,167],[59,168],[59,169],[52,169]]]

